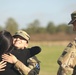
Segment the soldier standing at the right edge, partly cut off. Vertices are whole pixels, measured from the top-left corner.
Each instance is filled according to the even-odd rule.
[[[76,31],[76,11],[71,14],[71,21],[68,25],[73,25]],[[76,75],[76,39],[70,42],[57,60],[59,69],[57,75]]]

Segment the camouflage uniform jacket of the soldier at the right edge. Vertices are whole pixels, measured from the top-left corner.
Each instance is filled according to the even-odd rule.
[[[72,75],[76,65],[76,40],[70,42],[58,59],[57,75]]]

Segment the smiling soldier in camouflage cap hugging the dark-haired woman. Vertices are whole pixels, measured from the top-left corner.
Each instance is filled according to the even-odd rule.
[[[29,42],[29,38],[27,37],[29,36],[25,31],[19,30],[16,32],[16,34],[13,36],[13,44],[15,47],[17,47],[18,49],[24,49],[24,47],[27,48],[28,46],[28,42]],[[29,36],[30,37],[30,36]],[[27,44],[22,45],[23,43],[21,42],[23,39],[26,39]],[[38,46],[34,46],[31,48],[32,50],[37,50],[40,49]],[[41,49],[40,49],[41,50]],[[20,72],[21,75],[38,75],[39,71],[40,71],[40,61],[37,59],[36,56],[31,57],[28,59],[27,61],[27,66],[22,63],[20,60],[17,59],[16,56],[14,56],[13,54],[7,55],[4,54],[2,56],[4,61],[7,61],[11,64],[15,64],[15,68]],[[24,58],[25,60],[25,58]]]

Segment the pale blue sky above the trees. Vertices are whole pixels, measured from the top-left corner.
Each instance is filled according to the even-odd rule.
[[[0,25],[12,17],[20,28],[38,19],[42,26],[52,21],[68,23],[76,10],[76,0],[0,0]]]

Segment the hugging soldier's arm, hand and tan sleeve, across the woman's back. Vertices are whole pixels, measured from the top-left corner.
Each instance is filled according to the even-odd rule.
[[[18,60],[14,55],[4,54],[2,55],[4,61],[14,64],[15,69],[17,69],[21,75],[36,75],[34,69],[31,69],[24,65],[20,60]]]

